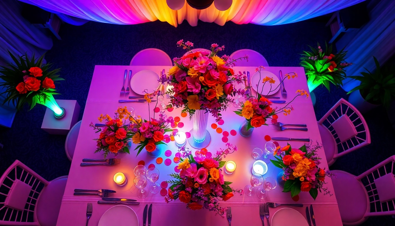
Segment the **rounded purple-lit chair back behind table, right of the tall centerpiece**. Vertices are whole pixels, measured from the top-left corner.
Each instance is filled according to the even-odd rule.
[[[248,55],[248,62],[245,59],[239,59],[244,57],[245,55]],[[236,61],[236,66],[269,66],[265,57],[252,49],[239,49],[233,52],[230,55],[230,58],[233,60],[239,59]]]

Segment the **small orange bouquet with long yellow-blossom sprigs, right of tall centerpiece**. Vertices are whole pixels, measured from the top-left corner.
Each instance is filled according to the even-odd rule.
[[[261,74],[261,70],[265,69],[263,66],[260,66],[255,69],[256,72],[259,72]],[[283,82],[286,78],[291,79],[291,78],[297,78],[297,73],[296,72],[291,72],[288,74],[285,74],[284,79],[281,81]],[[261,78],[260,78],[261,80]],[[265,86],[266,83],[270,84],[270,90],[268,93],[270,93],[272,90],[272,84],[275,84],[275,80],[273,78],[269,78],[266,76],[265,78],[262,79],[262,90],[263,87]],[[280,84],[279,84],[280,85]],[[257,85],[257,90],[259,88],[259,84]],[[247,86],[246,89],[250,89],[251,93],[251,87]],[[293,99],[295,100],[296,97],[298,96],[303,96],[306,95],[306,98],[309,96],[308,93],[304,90],[297,90],[296,93],[299,93],[296,95]],[[272,102],[265,97],[262,97],[260,93],[257,92],[256,96],[252,95],[246,95],[246,101],[241,104],[242,109],[238,109],[237,111],[234,111],[237,115],[244,117],[247,120],[247,130],[252,128],[252,127],[260,127],[261,125],[267,125],[266,121],[267,119],[278,119],[277,114],[280,112],[283,112],[284,115],[288,115],[291,113],[291,110],[293,110],[293,107],[288,107],[288,103],[286,106],[283,108],[273,108],[272,107]]]

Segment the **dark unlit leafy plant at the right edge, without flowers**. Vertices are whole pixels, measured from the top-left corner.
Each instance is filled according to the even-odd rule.
[[[362,76],[349,76],[361,82],[361,84],[352,89],[347,94],[359,90],[361,96],[372,104],[383,104],[386,108],[389,107],[391,101],[395,98],[395,67],[380,68],[376,57],[373,57],[376,63],[376,70],[372,73],[361,72]]]

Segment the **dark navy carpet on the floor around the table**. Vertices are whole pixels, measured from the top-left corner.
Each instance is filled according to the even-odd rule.
[[[254,49],[267,59],[270,66],[298,66],[299,53],[307,45],[316,46],[331,38],[326,19],[311,19],[288,25],[224,26],[199,21],[191,27],[184,21],[177,28],[155,21],[139,25],[110,25],[88,22],[83,26],[62,25],[62,40],[54,41],[46,55],[47,61],[62,68],[66,81],[57,85],[61,95],[56,99],[73,99],[81,105],[79,119],[83,116],[88,89],[95,65],[129,65],[132,57],[145,48],[164,50],[171,58],[184,53],[176,42],[190,40],[196,48],[209,48],[212,43],[225,45],[224,54],[238,49]],[[346,92],[331,86],[318,87],[316,118],[319,120]],[[17,113],[11,129],[0,128],[0,174],[16,159],[22,161],[47,180],[67,175],[70,161],[64,151],[66,136],[49,135],[41,122],[44,106],[28,111],[27,106]],[[359,175],[395,153],[395,135],[383,108],[365,115],[372,137],[372,144],[339,158],[331,169],[340,169]],[[392,217],[369,218],[363,225],[395,225]]]

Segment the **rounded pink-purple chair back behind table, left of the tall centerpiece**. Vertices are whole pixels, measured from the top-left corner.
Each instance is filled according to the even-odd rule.
[[[130,66],[173,66],[169,55],[160,49],[143,49],[136,53],[130,61]]]

